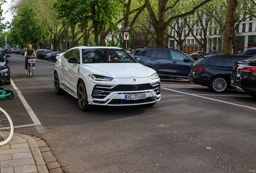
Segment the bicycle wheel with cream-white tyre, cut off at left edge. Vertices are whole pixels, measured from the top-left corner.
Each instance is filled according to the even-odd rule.
[[[13,135],[13,124],[10,116],[0,108],[0,146],[7,144]]]

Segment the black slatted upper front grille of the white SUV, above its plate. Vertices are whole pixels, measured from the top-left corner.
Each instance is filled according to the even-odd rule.
[[[109,85],[95,85],[93,88],[93,93],[92,97],[93,99],[104,99],[113,91],[145,91],[145,90],[150,90],[153,89],[157,95],[160,94],[160,82],[157,82],[153,85],[146,83],[146,84],[133,84],[133,85],[124,85],[124,84],[119,84],[115,87],[109,86]],[[131,94],[131,93],[129,93]],[[136,94],[136,93],[134,93]]]

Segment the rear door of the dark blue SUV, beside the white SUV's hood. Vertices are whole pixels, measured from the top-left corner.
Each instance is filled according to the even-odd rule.
[[[167,49],[153,49],[149,64],[157,71],[159,76],[171,75],[171,60]]]

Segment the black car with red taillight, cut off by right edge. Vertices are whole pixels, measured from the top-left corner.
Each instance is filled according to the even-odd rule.
[[[256,98],[256,57],[236,62],[230,78],[233,89]]]

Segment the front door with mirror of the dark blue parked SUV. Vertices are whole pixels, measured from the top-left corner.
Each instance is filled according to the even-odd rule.
[[[169,50],[171,55],[171,75],[188,77],[190,73],[190,64],[193,62],[190,58],[189,61],[184,61],[188,58],[184,53],[175,50]]]

